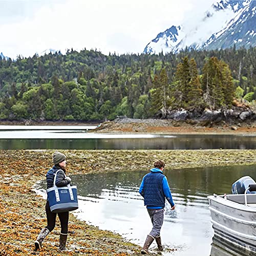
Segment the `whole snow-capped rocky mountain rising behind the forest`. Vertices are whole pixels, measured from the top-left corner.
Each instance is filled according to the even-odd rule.
[[[157,37],[145,47],[144,53],[159,53],[161,51],[163,51],[163,53],[170,51],[178,52],[185,47],[194,49],[230,47],[231,45],[228,45],[228,42],[231,42],[231,39],[226,40],[226,44],[219,44],[217,41],[221,39],[220,36],[223,35],[224,32],[231,29],[234,23],[236,23],[236,25],[233,25],[233,30],[236,30],[235,26],[241,24],[243,25],[243,29],[241,29],[241,31],[244,31],[243,33],[247,33],[247,31],[250,30],[248,34],[250,34],[250,37],[253,39],[253,33],[256,29],[254,28],[253,30],[251,27],[253,27],[253,5],[255,5],[255,3],[256,1],[253,0],[215,1],[201,16],[188,18],[187,20],[184,20],[182,25],[172,26],[164,32],[159,33]],[[245,15],[242,15],[242,13],[248,14],[248,11],[246,12],[248,9],[249,12],[252,13],[250,22]],[[247,29],[247,23],[251,22],[252,26],[249,26],[250,28]],[[233,36],[233,44],[241,42],[239,39],[244,36],[244,34],[241,34],[241,36],[238,35],[241,31],[236,30],[236,35]],[[235,34],[235,31],[233,32],[234,33],[232,35]],[[256,37],[253,41],[255,44]],[[249,42],[249,39],[247,42]],[[252,41],[250,41],[250,43],[252,43]],[[241,46],[242,45],[245,46],[245,41]]]

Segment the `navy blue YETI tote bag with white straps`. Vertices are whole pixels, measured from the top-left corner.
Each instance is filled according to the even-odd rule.
[[[78,209],[77,187],[70,184],[65,187],[57,187],[55,182],[58,172],[63,172],[63,170],[57,170],[53,187],[46,189],[51,212],[66,212]],[[67,176],[65,175],[65,177]]]

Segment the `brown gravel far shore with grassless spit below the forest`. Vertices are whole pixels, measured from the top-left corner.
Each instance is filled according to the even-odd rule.
[[[174,121],[170,119],[115,119],[105,122],[79,122],[79,121],[1,121],[0,125],[51,125],[51,126],[82,126],[82,125],[97,125],[98,127],[89,132],[91,133],[108,133],[108,134],[255,134],[256,122],[238,124],[220,123],[212,124],[211,126],[201,126],[199,124],[191,124],[186,121]]]

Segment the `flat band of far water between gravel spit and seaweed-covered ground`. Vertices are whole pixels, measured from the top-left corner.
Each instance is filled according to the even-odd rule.
[[[156,135],[88,133],[96,126],[0,125],[0,150],[198,150],[254,149],[256,135]],[[15,130],[14,130],[15,129]]]

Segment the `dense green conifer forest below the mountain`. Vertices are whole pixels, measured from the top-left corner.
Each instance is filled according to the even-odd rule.
[[[255,100],[256,48],[179,54],[68,51],[0,59],[0,119],[150,118],[159,110]]]

